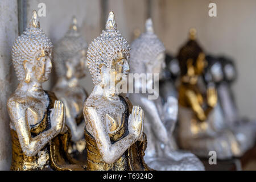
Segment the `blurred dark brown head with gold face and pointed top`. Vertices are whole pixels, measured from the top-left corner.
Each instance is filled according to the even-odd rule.
[[[191,28],[189,31],[189,40],[180,48],[177,59],[180,65],[180,75],[185,78],[183,81],[190,80],[195,83],[207,65],[203,49],[196,42],[195,28]],[[191,78],[195,79],[191,80]]]

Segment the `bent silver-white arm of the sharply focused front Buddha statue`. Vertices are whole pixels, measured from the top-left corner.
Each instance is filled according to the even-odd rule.
[[[84,115],[86,122],[89,122],[90,127],[92,127],[93,137],[105,163],[114,163],[138,140],[137,137],[129,133],[125,138],[112,144],[104,121],[98,117],[96,110],[93,107],[85,107]]]

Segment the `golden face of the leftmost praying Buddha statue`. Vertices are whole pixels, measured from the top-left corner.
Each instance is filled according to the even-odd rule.
[[[29,75],[31,79],[35,79],[38,82],[45,82],[48,80],[52,69],[51,50],[42,50],[36,53],[33,63],[28,63],[28,61],[24,61],[23,63],[26,77]]]

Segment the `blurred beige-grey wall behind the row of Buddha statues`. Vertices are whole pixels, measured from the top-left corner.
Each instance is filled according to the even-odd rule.
[[[240,114],[256,118],[256,1],[254,0],[1,0],[0,1],[0,169],[9,169],[10,134],[6,98],[16,88],[16,77],[10,62],[10,50],[18,36],[18,5],[26,2],[26,20],[38,4],[46,4],[46,17],[40,17],[40,25],[53,44],[67,32],[75,15],[80,32],[89,44],[100,35],[110,10],[113,10],[118,29],[131,42],[134,30],[144,31],[144,22],[151,17],[156,34],[163,41],[167,52],[176,55],[179,47],[188,39],[188,30],[197,29],[197,38],[207,53],[224,54],[236,61],[238,80],[233,89]],[[217,5],[217,17],[209,17],[208,5]],[[25,22],[26,22],[25,20]],[[20,22],[19,22],[20,23]],[[51,89],[55,73],[44,84]],[[10,82],[14,85],[10,85]],[[81,80],[88,93],[93,85],[89,73]]]

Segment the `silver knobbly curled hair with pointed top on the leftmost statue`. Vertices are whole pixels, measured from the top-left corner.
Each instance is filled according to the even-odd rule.
[[[26,28],[22,35],[15,39],[13,48],[11,49],[11,58],[18,80],[24,80],[25,71],[23,68],[23,61],[27,60],[32,63],[36,52],[44,50],[51,54],[52,51],[51,40],[44,34],[40,28],[38,15],[33,11],[30,25]]]

